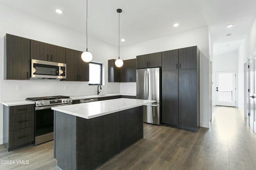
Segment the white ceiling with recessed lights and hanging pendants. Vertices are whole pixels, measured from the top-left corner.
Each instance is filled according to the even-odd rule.
[[[86,0],[0,0],[0,4],[85,33]],[[121,46],[209,26],[213,43],[246,38],[255,0],[88,0],[88,35]],[[56,14],[60,8],[63,14]],[[174,23],[178,27],[173,27]],[[228,29],[226,25],[233,23]],[[232,33],[227,38],[226,34]]]

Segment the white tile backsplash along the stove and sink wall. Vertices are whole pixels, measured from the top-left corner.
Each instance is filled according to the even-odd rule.
[[[17,90],[17,85],[21,90]],[[65,89],[65,86],[68,87]],[[28,97],[40,96],[81,96],[97,94],[97,86],[89,86],[88,82],[66,82],[59,80],[2,80],[1,101],[24,100]],[[119,83],[105,83],[101,94],[120,93]]]

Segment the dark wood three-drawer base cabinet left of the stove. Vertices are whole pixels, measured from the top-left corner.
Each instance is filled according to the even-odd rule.
[[[34,104],[4,106],[3,143],[8,151],[34,142]]]

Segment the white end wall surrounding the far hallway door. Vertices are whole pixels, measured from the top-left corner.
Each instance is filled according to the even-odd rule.
[[[213,105],[216,105],[216,71],[236,71],[238,73],[238,51],[214,56],[213,66]],[[238,76],[236,76],[236,89],[238,87]],[[236,107],[238,104],[238,95],[236,90]]]

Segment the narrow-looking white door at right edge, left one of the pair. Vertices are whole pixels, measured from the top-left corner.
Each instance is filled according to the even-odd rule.
[[[248,59],[249,68],[248,68],[248,88],[249,88],[249,112],[248,112],[248,123],[252,129],[254,129],[253,116],[254,116],[254,69],[253,69],[253,56]]]

